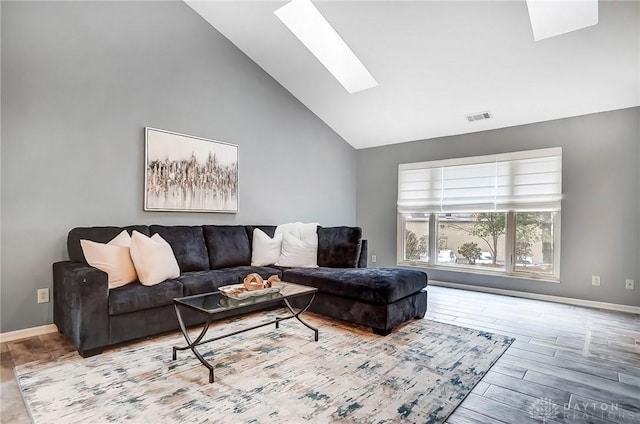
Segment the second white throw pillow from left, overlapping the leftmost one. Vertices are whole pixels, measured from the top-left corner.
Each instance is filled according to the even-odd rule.
[[[160,234],[147,237],[134,231],[131,235],[131,259],[138,272],[138,280],[145,286],[180,276],[173,250]]]

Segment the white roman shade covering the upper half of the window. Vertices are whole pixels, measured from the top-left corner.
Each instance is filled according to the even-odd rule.
[[[562,149],[528,150],[398,167],[398,211],[559,211]]]

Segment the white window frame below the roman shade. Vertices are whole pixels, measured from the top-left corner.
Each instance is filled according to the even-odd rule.
[[[520,213],[526,211],[518,211]],[[465,267],[458,264],[451,263],[438,263],[438,238],[439,229],[438,215],[437,213],[429,214],[429,260],[428,261],[416,261],[405,260],[405,245],[406,245],[406,217],[405,215],[411,215],[410,213],[397,213],[397,249],[396,249],[396,263],[398,266],[408,266],[417,268],[433,268],[442,269],[455,272],[467,272],[479,275],[500,275],[505,277],[529,279],[535,281],[544,282],[560,282],[560,235],[561,235],[561,212],[549,211],[553,214],[553,273],[543,274],[537,272],[527,272],[521,269],[516,269],[515,256],[516,256],[516,213],[514,211],[504,212],[506,213],[505,223],[505,264],[504,269],[483,269],[481,267],[472,268]],[[478,212],[476,212],[478,213]],[[457,252],[456,252],[457,253]]]

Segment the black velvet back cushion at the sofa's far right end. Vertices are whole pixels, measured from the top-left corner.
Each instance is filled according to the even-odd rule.
[[[318,227],[318,266],[356,268],[362,249],[360,227]]]

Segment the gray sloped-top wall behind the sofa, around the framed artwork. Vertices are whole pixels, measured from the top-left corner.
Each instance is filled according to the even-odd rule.
[[[355,224],[355,150],[184,3],[1,7],[2,332],[76,226]],[[240,212],[144,212],[145,126],[238,144]]]

